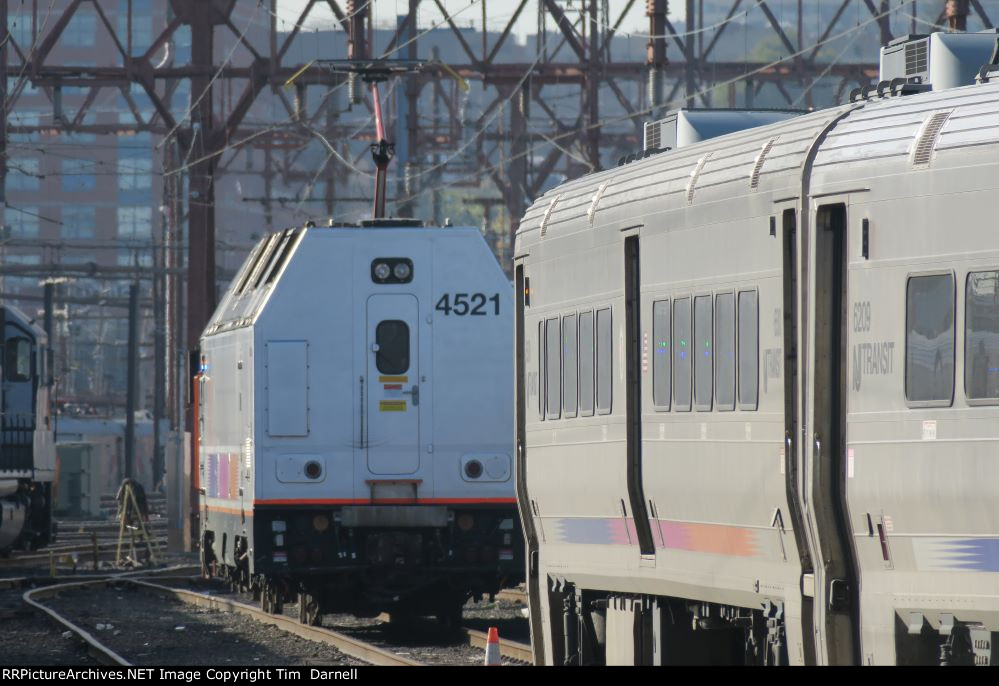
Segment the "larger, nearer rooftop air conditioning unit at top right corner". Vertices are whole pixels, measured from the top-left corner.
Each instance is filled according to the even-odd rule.
[[[905,79],[939,91],[975,83],[993,60],[999,31],[901,36],[881,48],[881,83]]]

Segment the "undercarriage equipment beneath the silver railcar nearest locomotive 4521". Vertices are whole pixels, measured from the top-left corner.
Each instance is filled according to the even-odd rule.
[[[551,581],[552,664],[785,665],[782,603],[758,608]]]

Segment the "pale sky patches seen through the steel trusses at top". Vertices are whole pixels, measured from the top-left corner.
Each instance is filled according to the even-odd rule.
[[[396,16],[405,14],[409,6],[408,0],[372,0],[372,2],[374,5],[376,26],[395,26]],[[470,22],[475,22],[476,28],[481,28],[482,9],[485,6],[486,26],[492,31],[502,31],[519,4],[519,0],[442,0],[442,2],[451,13],[455,23],[461,27],[469,26]],[[306,0],[278,0],[279,20],[287,22],[287,28],[291,28],[306,4]],[[580,0],[563,0],[562,4],[564,7],[578,7],[582,3]],[[672,3],[673,6],[680,6],[681,8],[683,4]],[[521,41],[527,35],[534,34],[537,31],[537,5],[537,0],[529,0],[527,6],[521,12],[517,24],[514,26],[514,32]],[[624,3],[621,0],[614,0],[610,3],[611,15],[614,16],[615,21],[620,12],[620,9],[615,11],[615,7],[623,5]],[[345,8],[346,0],[341,0],[340,6]],[[322,10],[320,12],[318,9],[314,9],[312,12],[312,17],[314,18],[307,21],[306,26],[310,28],[329,27],[333,23],[333,15],[325,7]],[[681,17],[671,12],[670,19],[675,21],[681,19]],[[422,0],[420,3],[420,28],[430,28],[432,22],[440,22],[441,20],[441,14],[437,10],[433,0]],[[550,30],[554,29],[550,18],[548,26]],[[645,16],[645,2],[635,2],[624,23],[621,25],[622,31],[648,33],[648,27],[649,20]],[[282,28],[280,21],[278,28]]]

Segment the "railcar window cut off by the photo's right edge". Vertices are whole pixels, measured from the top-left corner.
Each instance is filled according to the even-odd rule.
[[[964,392],[999,398],[999,271],[968,274],[964,325]]]

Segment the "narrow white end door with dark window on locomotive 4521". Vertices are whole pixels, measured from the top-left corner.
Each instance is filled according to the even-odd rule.
[[[368,298],[364,446],[372,474],[420,468],[419,301],[409,294]]]

